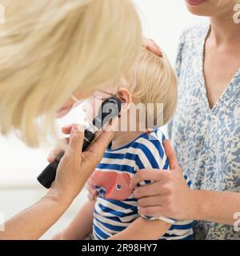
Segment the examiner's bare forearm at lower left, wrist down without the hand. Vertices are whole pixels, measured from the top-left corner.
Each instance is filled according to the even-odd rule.
[[[62,197],[58,192],[49,191],[44,198],[5,223],[0,240],[38,239],[62,216],[71,198]]]

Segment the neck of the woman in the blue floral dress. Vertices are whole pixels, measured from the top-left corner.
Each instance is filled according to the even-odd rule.
[[[225,14],[211,17],[210,38],[216,46],[232,45],[240,43],[240,24],[234,22],[234,10]]]

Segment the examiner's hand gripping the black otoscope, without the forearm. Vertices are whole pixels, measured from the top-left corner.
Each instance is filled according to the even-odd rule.
[[[48,196],[60,198],[61,200],[73,200],[82,190],[90,174],[94,171],[98,162],[109,144],[113,132],[102,131],[102,134],[82,152],[83,132],[78,125],[66,126],[62,129],[65,134],[70,134],[69,143],[64,156],[58,165],[56,179],[53,182]],[[51,152],[48,160],[53,162],[61,149]]]

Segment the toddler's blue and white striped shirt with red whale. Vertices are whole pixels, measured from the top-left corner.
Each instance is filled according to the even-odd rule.
[[[176,221],[159,216],[151,218],[138,213],[137,199],[130,188],[130,179],[138,170],[145,168],[169,169],[162,142],[165,140],[160,129],[135,138],[126,146],[111,150],[107,147],[102,161],[94,172],[94,186],[98,198],[94,207],[94,239],[103,240],[126,229],[140,216],[149,220],[159,219],[172,224],[170,230],[159,239],[191,239],[192,221]],[[144,171],[144,170],[142,170]],[[190,186],[190,180],[185,176]],[[141,182],[138,186],[150,183]]]

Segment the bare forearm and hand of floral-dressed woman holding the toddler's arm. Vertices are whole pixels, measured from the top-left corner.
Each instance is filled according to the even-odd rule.
[[[206,220],[233,225],[236,221],[234,214],[240,212],[240,193],[191,190],[186,185],[170,142],[163,143],[170,171],[139,171],[132,179],[139,212],[179,220]],[[153,180],[154,183],[137,187],[143,180]]]

